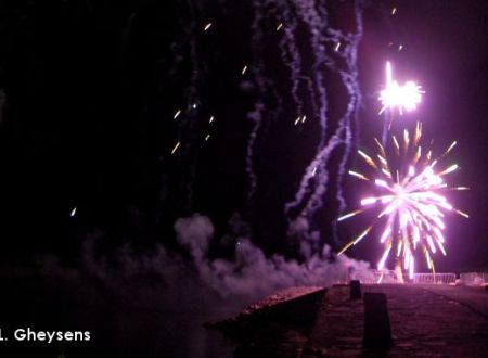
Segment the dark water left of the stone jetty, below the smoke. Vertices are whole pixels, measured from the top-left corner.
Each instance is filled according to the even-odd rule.
[[[203,327],[245,305],[194,286],[170,289],[146,278],[107,283],[77,271],[2,274],[4,356],[232,357],[233,345]],[[16,329],[89,331],[89,342],[16,342]]]

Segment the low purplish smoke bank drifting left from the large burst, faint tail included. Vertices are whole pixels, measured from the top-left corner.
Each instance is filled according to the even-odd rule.
[[[304,263],[281,255],[267,257],[251,242],[246,223],[239,216],[233,216],[230,223],[231,233],[222,241],[234,245],[233,259],[209,257],[210,242],[217,240],[214,225],[207,216],[194,214],[179,218],[174,226],[177,243],[189,256],[160,244],[145,254],[136,253],[126,245],[117,252],[115,259],[107,259],[97,254],[100,238],[93,236],[85,243],[82,261],[85,268],[107,286],[115,287],[119,282],[150,276],[159,278],[165,290],[172,294],[191,290],[242,302],[259,299],[292,286],[330,286],[351,278],[373,279],[369,263],[344,255],[331,261],[329,246],[312,254],[310,247],[304,250],[304,244],[301,250],[309,254]],[[307,222],[297,222],[297,226],[304,229]]]

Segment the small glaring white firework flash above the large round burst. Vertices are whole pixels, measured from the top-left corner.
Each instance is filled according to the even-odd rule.
[[[402,47],[401,47],[402,48]],[[401,51],[401,48],[399,50]],[[422,87],[416,82],[409,80],[403,86],[400,86],[391,75],[391,64],[386,62],[386,86],[383,91],[380,92],[378,100],[382,102],[382,108],[380,114],[385,110],[398,110],[400,114],[403,111],[413,111],[416,105],[422,101]]]

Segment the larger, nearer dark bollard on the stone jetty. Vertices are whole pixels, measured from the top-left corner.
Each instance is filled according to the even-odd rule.
[[[365,348],[387,349],[393,345],[386,294],[364,293],[364,336]]]

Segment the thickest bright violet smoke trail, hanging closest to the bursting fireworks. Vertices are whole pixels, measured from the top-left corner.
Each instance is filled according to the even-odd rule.
[[[323,17],[326,17],[325,8],[319,7],[317,14],[321,14]],[[311,218],[317,209],[322,206],[323,196],[329,189],[328,183],[331,176],[326,165],[334,151],[338,150],[341,146],[344,148],[344,153],[339,159],[339,167],[336,177],[336,197],[339,203],[339,210],[345,208],[342,181],[352,144],[352,127],[356,126],[357,128],[358,110],[361,101],[361,93],[358,84],[357,50],[362,37],[362,17],[361,9],[358,2],[356,2],[355,5],[355,17],[356,33],[347,35],[336,29],[323,28],[323,24],[326,24],[325,22],[319,22],[316,20],[308,23],[312,28],[312,34],[314,34],[314,37],[312,37],[312,48],[317,50],[316,67],[318,68],[320,64],[325,64],[329,68],[338,72],[342,84],[347,90],[348,104],[346,112],[338,119],[338,126],[335,132],[331,133],[331,137],[328,140],[325,135],[330,118],[326,116],[326,89],[323,84],[323,77],[320,75],[320,71],[316,71],[318,75],[314,78],[314,84],[318,88],[318,97],[320,99],[319,117],[321,137],[317,148],[316,157],[306,168],[295,200],[286,205],[288,217],[292,209],[301,207],[298,217]],[[314,17],[311,16],[311,18]],[[304,18],[304,21],[306,20]],[[326,35],[320,36],[319,34]],[[333,60],[331,56],[325,54],[323,49],[331,46],[331,43],[334,43],[335,55],[339,59],[339,61]],[[337,44],[341,47],[337,47]],[[336,239],[335,227],[333,228],[333,234],[334,239]]]

